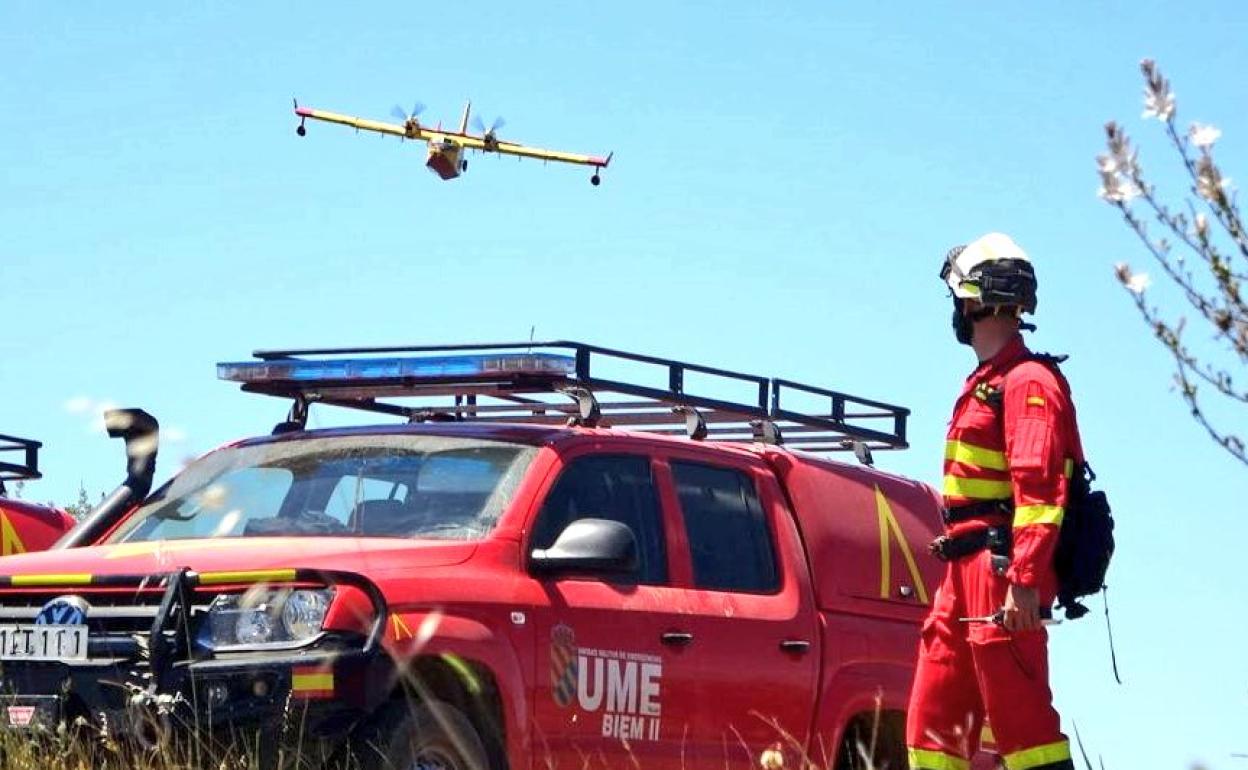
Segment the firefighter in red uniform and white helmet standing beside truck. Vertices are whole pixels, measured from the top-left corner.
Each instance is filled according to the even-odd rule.
[[[1001,233],[946,257],[953,331],[980,366],[945,442],[948,562],[924,623],[910,696],[911,770],[966,770],[987,719],[1008,770],[1073,770],[1048,689],[1053,553],[1072,469],[1082,462],[1065,381],[1025,346],[1036,309],[1027,255]],[[978,620],[976,620],[978,619]]]

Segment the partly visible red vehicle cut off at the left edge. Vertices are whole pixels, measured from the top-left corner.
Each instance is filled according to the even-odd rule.
[[[37,441],[0,436],[0,557],[45,550],[74,527],[74,517],[52,505],[7,495],[5,482],[41,478]],[[14,454],[17,456],[14,459]]]

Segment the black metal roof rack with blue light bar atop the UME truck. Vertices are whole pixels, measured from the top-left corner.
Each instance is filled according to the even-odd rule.
[[[610,424],[811,452],[909,446],[910,409],[904,407],[582,342],[305,348],[253,356],[257,361],[218,363],[217,377],[251,393],[292,399],[288,419],[275,432],[302,428],[308,406],[324,403],[411,422]]]

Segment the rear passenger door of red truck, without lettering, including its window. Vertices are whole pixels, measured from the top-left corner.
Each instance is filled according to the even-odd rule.
[[[718,461],[719,458],[716,458]],[[671,457],[664,473],[688,540],[693,607],[683,618],[698,690],[694,735],[703,768],[784,766],[805,756],[819,660],[817,618],[801,542],[775,477]]]

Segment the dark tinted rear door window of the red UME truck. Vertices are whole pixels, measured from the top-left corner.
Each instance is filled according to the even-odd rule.
[[[750,477],[686,462],[673,462],[671,473],[689,537],[694,584],[749,593],[780,588],[771,532]]]

